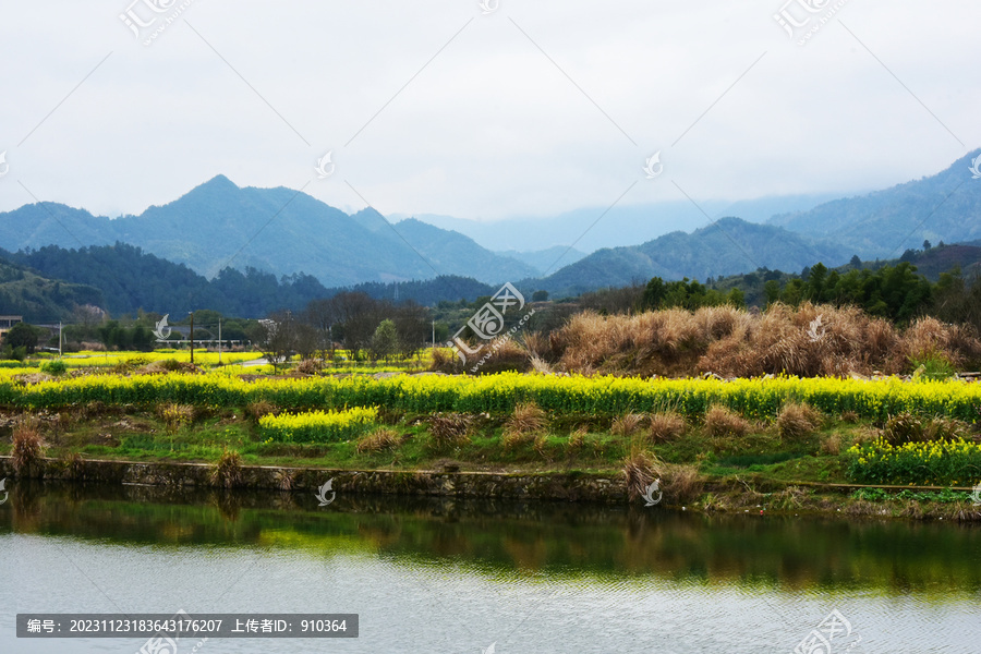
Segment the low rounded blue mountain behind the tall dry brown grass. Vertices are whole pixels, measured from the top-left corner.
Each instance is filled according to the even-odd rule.
[[[555,298],[606,287],[666,280],[698,279],[748,272],[756,268],[797,271],[823,262],[846,263],[849,249],[820,242],[772,225],[723,218],[692,233],[681,231],[631,247],[598,250],[541,280],[521,282],[523,289],[544,289]]]

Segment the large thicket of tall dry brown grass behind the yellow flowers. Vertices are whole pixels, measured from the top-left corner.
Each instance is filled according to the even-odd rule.
[[[611,316],[586,311],[547,337],[528,335],[525,348],[538,370],[586,375],[900,374],[925,354],[957,367],[981,365],[981,340],[970,327],[925,317],[899,330],[859,307],[807,302],[797,308],[776,303],[762,313],[731,306]]]

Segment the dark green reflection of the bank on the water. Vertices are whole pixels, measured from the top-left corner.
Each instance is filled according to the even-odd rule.
[[[945,522],[702,516],[642,507],[19,482],[0,533],[277,546],[423,567],[932,596],[981,591],[981,530]]]

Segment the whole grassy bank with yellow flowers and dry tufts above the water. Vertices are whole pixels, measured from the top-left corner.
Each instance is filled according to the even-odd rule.
[[[962,382],[169,373],[0,382],[0,453],[69,463],[582,471],[704,510],[981,516],[981,385]]]

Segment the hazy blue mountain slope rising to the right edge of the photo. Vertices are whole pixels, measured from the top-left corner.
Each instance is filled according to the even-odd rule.
[[[937,244],[981,238],[981,180],[970,170],[981,149],[946,170],[867,195],[824,203],[809,211],[784,214],[770,223],[832,239],[863,258],[894,258],[924,240]]]

